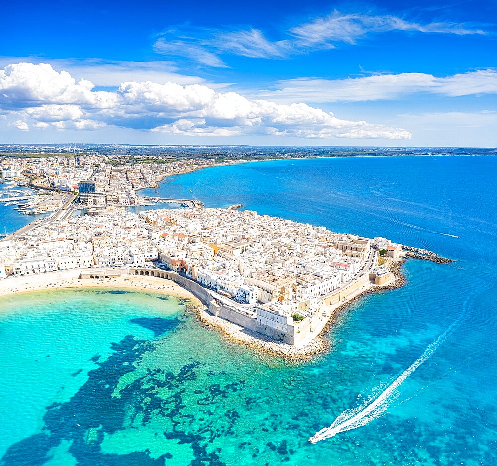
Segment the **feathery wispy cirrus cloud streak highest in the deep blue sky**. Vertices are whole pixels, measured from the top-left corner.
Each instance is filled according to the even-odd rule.
[[[210,67],[226,67],[221,56],[288,59],[295,55],[353,45],[361,39],[386,32],[483,35],[483,29],[455,22],[420,23],[393,15],[341,13],[333,11],[290,28],[277,40],[263,31],[248,28],[235,31],[181,26],[160,34],[154,51],[182,57]]]

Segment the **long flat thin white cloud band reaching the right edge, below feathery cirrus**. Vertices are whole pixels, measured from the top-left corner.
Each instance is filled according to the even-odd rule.
[[[497,70],[486,69],[449,76],[426,73],[379,74],[362,78],[298,78],[279,81],[274,90],[257,95],[278,102],[364,102],[391,100],[401,95],[425,92],[449,97],[497,94]]]

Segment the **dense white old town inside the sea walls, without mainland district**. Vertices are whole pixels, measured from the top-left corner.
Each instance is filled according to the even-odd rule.
[[[377,283],[392,278],[376,266],[370,239],[248,210],[111,207],[36,222],[0,242],[0,277],[85,269],[96,278],[103,268],[106,276],[172,278],[170,271],[194,283],[197,296],[207,293],[214,315],[291,344],[314,332],[328,306],[370,286],[371,273]],[[392,257],[400,252],[375,241]]]

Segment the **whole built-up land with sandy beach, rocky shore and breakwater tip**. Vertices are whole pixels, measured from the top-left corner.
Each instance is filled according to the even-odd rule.
[[[320,336],[337,309],[365,292],[403,283],[403,256],[446,261],[382,237],[239,211],[240,204],[206,209],[195,200],[170,200],[183,208],[130,212],[130,199],[143,202],[135,189],[186,164],[168,165],[164,172],[150,164],[133,170],[98,164],[90,170],[94,157],[77,157],[52,173],[77,173],[69,184],[78,191],[61,194],[54,214],[0,242],[0,294],[114,286],[196,297],[204,324],[248,347],[303,357],[326,349]],[[10,182],[27,178],[46,185],[57,179],[50,171],[56,166],[50,158],[9,159],[2,173]],[[82,207],[86,215],[73,215]],[[178,284],[192,294],[178,292]]]

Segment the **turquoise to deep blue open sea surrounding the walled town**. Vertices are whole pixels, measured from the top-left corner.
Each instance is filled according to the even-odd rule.
[[[331,352],[299,366],[227,342],[173,297],[4,298],[0,464],[497,464],[496,167],[331,158],[167,179],[163,197],[242,203],[456,262],[407,261],[404,287],[349,307]],[[335,436],[308,442],[338,417]]]

